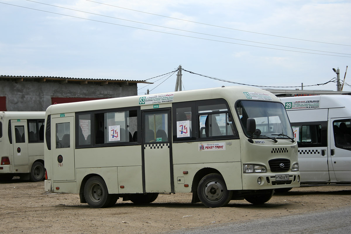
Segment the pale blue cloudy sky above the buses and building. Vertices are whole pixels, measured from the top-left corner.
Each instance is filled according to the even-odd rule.
[[[0,29],[0,75],[146,80],[181,65],[301,89],[335,78],[332,68],[343,80],[351,65],[351,1],[0,0]],[[138,93],[174,91],[171,74],[138,84]],[[182,74],[183,90],[234,85]],[[336,83],[304,89],[336,91]]]

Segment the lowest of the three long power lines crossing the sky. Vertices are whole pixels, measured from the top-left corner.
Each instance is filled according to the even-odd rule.
[[[111,23],[111,22],[105,22],[105,21],[101,21],[101,20],[93,20],[93,19],[87,19],[87,18],[73,16],[73,15],[61,14],[61,13],[56,13],[56,12],[49,12],[49,11],[44,11],[44,10],[40,10],[40,9],[30,8],[30,7],[24,7],[24,6],[8,4],[8,3],[5,3],[5,2],[0,2],[0,3],[6,4],[6,5],[11,5],[11,6],[16,6],[16,7],[22,7],[22,8],[26,8],[26,9],[32,9],[32,10],[35,10],[35,11],[41,11],[41,12],[52,13],[52,14],[57,14],[57,15],[69,16],[69,17],[77,18],[77,19],[84,19],[84,20],[90,20],[90,21],[94,21],[94,22],[105,23],[105,24],[111,24],[111,25],[123,26],[123,27],[128,27],[128,28],[141,29],[141,30],[150,31],[150,32],[158,32],[158,33],[164,33],[164,34],[170,34],[170,35],[184,36],[184,37],[188,37],[188,38],[195,38],[195,39],[201,39],[201,40],[223,42],[223,43],[234,44],[234,45],[251,46],[251,47],[257,47],[257,48],[275,49],[275,50],[279,50],[279,51],[289,51],[289,52],[297,52],[297,53],[305,53],[305,54],[317,54],[317,55],[327,55],[327,56],[337,56],[337,57],[351,58],[351,56],[333,55],[333,54],[320,54],[320,53],[312,53],[312,52],[304,52],[304,51],[293,51],[293,50],[289,50],[289,49],[278,49],[278,48],[271,48],[271,47],[264,47],[264,46],[246,45],[246,44],[240,44],[240,43],[234,43],[234,42],[228,42],[228,41],[213,40],[213,39],[208,39],[208,38],[199,38],[199,37],[196,37],[196,36],[187,36],[187,35],[181,35],[181,34],[176,34],[176,33],[167,33],[167,32],[161,32],[161,31],[152,30],[152,29],[132,27],[132,26],[127,26],[127,25],[115,24],[115,23]]]

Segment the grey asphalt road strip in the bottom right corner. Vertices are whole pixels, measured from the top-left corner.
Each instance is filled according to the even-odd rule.
[[[349,234],[351,205],[338,210],[289,215],[220,226],[184,229],[168,234]]]

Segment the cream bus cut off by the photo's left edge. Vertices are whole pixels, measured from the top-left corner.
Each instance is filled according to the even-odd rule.
[[[0,112],[0,178],[44,179],[45,112]]]

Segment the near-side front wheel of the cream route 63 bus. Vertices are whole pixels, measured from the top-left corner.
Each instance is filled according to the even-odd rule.
[[[223,176],[212,173],[204,176],[198,185],[200,201],[207,207],[222,207],[232,198],[232,191],[227,189]]]

